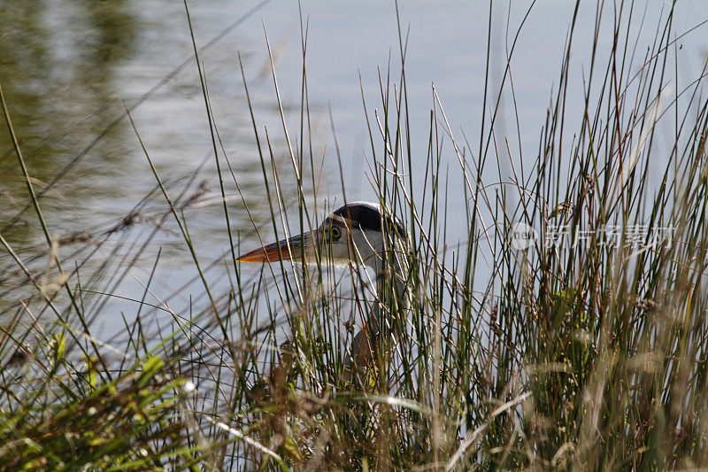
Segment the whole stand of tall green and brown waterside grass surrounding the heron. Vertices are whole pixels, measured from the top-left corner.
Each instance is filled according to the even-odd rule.
[[[378,112],[365,100],[371,182],[383,211],[401,218],[409,233],[396,254],[405,259],[405,304],[393,303],[402,294],[390,283],[390,268],[368,274],[356,264],[329,267],[327,259],[312,267],[233,264],[242,251],[228,219],[235,209],[226,202],[239,193],[238,178],[220,146],[199,68],[225,202],[226,263],[214,269],[200,261],[182,211],[189,193],[175,197],[152,167],[165,197],[163,218],[178,225],[204,303],[184,312],[169,300],[150,307],[148,282],[135,297],[125,347],[116,349],[90,333],[91,310],[102,305],[84,303],[91,288],[78,270],[52,267],[62,276],[48,291],[3,239],[12,264],[36,282],[13,314],[3,314],[11,320],[0,339],[4,463],[362,470],[708,463],[704,71],[669,95],[673,7],[646,56],[635,58],[639,49],[627,33],[635,13],[631,4],[616,6],[615,41],[606,55],[591,51],[581,110],[566,105],[571,51],[582,47],[573,43],[573,18],[537,155],[532,166],[512,159],[511,174],[499,164],[512,149],[495,128],[498,96],[484,104],[491,112],[473,146],[458,139],[443,99],[431,91],[422,174],[404,68],[397,80],[393,71],[381,78]],[[597,35],[607,8],[597,7]],[[304,24],[301,31],[305,59]],[[273,217],[271,228],[254,223],[262,243],[293,228],[317,228],[327,212],[316,184],[305,64],[292,138],[272,63],[284,155],[258,125],[244,74]],[[508,83],[504,75],[502,90]],[[577,128],[568,125],[573,115]],[[655,131],[667,121],[670,139],[659,144]],[[139,128],[135,123],[136,135]],[[150,161],[149,143],[139,143]],[[442,172],[450,162],[458,163],[461,189],[450,189]],[[286,182],[284,165],[294,182]],[[467,202],[463,244],[448,236],[452,192]],[[239,211],[250,209],[244,202]],[[559,230],[565,237],[555,237]],[[227,290],[212,287],[210,270],[226,273]],[[173,326],[143,326],[155,310],[168,313]],[[365,383],[351,382],[344,361],[373,310],[387,313],[393,349],[367,369]],[[35,313],[46,311],[59,322],[40,322]]]

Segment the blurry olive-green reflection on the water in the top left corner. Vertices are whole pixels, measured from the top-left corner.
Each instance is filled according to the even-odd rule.
[[[109,119],[117,98],[114,68],[130,55],[136,19],[122,0],[43,6],[10,0],[0,7],[3,18],[17,19],[0,36],[0,74],[27,164],[46,181],[77,138],[100,132]],[[54,10],[70,13],[54,16]],[[6,134],[0,139],[8,150]],[[105,136],[97,152],[125,154],[116,149],[122,139]],[[4,173],[12,172],[9,153]]]

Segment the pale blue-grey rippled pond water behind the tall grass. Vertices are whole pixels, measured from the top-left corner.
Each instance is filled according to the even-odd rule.
[[[511,159],[530,162],[537,154],[538,136],[560,71],[574,5],[566,0],[546,0],[535,4],[527,15],[529,4],[514,1],[510,8],[507,2],[495,2],[491,12],[489,76],[490,90],[494,91],[504,76],[506,54],[515,32],[524,21],[512,60],[519,132],[510,97],[504,97],[497,132],[503,135],[508,130],[515,140],[519,133],[518,144],[512,146],[519,152],[512,152],[516,155]],[[399,2],[399,7],[402,30],[408,38],[405,66],[412,146],[419,150],[414,155],[422,163],[426,159],[429,110],[433,105],[432,84],[453,132],[459,138],[464,132],[471,143],[479,140],[489,4],[410,0]],[[652,27],[666,14],[666,7],[663,2],[635,3],[635,15],[644,17],[650,26],[640,36],[647,42],[640,41],[640,49],[650,45]],[[273,50],[286,120],[294,136],[298,134],[302,76],[298,4],[284,0],[212,0],[189,2],[189,9],[197,46],[208,45],[200,60],[220,145],[240,190],[236,191],[228,173],[225,182],[231,197],[230,221],[232,228],[240,231],[242,251],[247,251],[258,244],[252,231],[254,222],[262,228],[261,236],[269,238],[273,232],[238,54],[242,56],[259,132],[263,135],[268,129],[275,153],[282,157],[279,170],[284,173],[286,197],[291,198],[285,204],[293,205],[296,212],[296,193],[289,182],[292,175],[288,174],[290,166],[265,32]],[[369,112],[373,113],[374,108],[381,109],[379,73],[386,74],[389,60],[392,80],[398,81],[396,5],[381,0],[303,0],[301,9],[308,27],[307,81],[313,154],[322,159],[319,208],[324,207],[325,201],[329,205],[342,202],[330,112],[347,198],[371,200],[374,192],[366,177],[370,145],[360,87]],[[675,15],[675,30],[688,31],[705,19],[708,4],[681,2]],[[595,5],[583,4],[574,39],[582,45],[576,49],[581,54],[591,50],[595,20]],[[611,26],[608,19],[605,29],[609,31]],[[685,72],[681,76],[695,77],[701,70],[705,37],[708,36],[703,26],[681,38],[681,50],[677,52],[681,72]],[[214,38],[216,41],[210,43]],[[601,36],[601,47],[608,47],[611,40],[608,35]],[[199,75],[194,61],[184,65],[192,54],[181,2],[4,0],[0,4],[0,84],[29,173],[36,190],[42,192],[41,205],[50,233],[70,241],[77,235],[100,237],[113,230],[115,241],[104,244],[101,251],[118,251],[119,255],[129,252],[125,248],[127,242],[151,238],[150,246],[129,267],[130,276],[116,289],[121,293],[142,292],[140,283],[150,274],[158,250],[156,293],[166,297],[189,284],[196,275],[176,227],[167,225],[152,234],[167,206],[155,191],[155,177],[125,116],[126,106],[131,109],[135,128],[168,191],[173,196],[184,191],[197,202],[185,214],[199,257],[207,265],[229,251]],[[637,62],[637,69],[640,63]],[[588,66],[588,58],[574,58],[578,81],[577,89],[569,93],[568,106],[571,110],[576,106],[578,113],[581,74],[587,72]],[[681,83],[677,87],[681,88]],[[569,118],[576,119],[580,116]],[[450,188],[459,189],[457,159],[451,152],[446,159],[443,166],[449,166],[453,175]],[[509,171],[507,164],[502,168]],[[226,168],[222,170],[227,172]],[[143,200],[146,196],[149,197]],[[37,263],[46,265],[46,244],[41,243],[42,233],[33,210],[27,208],[28,202],[12,143],[6,133],[0,133],[0,231],[16,249],[35,251]],[[250,214],[245,212],[243,202],[249,205]],[[140,205],[139,212],[127,222],[137,227],[137,232],[131,228],[134,230],[128,236],[119,236],[121,221],[127,226],[123,219],[136,205]],[[450,198],[450,241],[466,237],[464,223],[455,223],[465,221],[455,218],[465,205],[464,201]],[[62,251],[71,260],[70,244]],[[255,274],[258,267],[248,270]],[[189,291],[188,285],[182,294]],[[102,322],[111,331],[118,326],[111,320],[120,311],[131,310],[135,310],[135,305],[117,302],[106,308]]]

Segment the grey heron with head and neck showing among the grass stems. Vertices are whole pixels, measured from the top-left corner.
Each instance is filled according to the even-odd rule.
[[[361,381],[363,368],[374,360],[382,333],[385,342],[393,334],[387,332],[394,324],[390,316],[402,313],[408,305],[407,241],[401,221],[382,212],[381,205],[352,202],[327,216],[319,228],[267,244],[237,260],[308,264],[320,258],[323,264],[352,262],[373,268],[379,302],[373,305],[364,327],[354,337],[350,356],[345,358],[349,375],[357,375]]]

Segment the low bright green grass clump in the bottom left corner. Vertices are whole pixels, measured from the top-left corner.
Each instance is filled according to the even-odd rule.
[[[52,340],[53,357],[28,353],[23,363],[5,368],[5,385],[16,387],[6,394],[16,405],[4,408],[0,420],[4,468],[145,470],[196,464],[189,424],[180,418],[184,380],[169,380],[163,360],[149,358],[99,383],[96,358],[86,360],[83,369],[70,368],[62,359],[65,339]],[[47,361],[50,368],[38,368]],[[22,370],[34,374],[31,381],[16,376]]]

